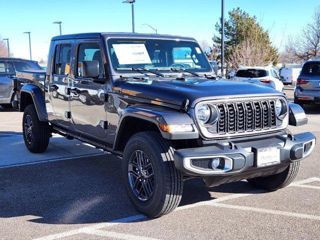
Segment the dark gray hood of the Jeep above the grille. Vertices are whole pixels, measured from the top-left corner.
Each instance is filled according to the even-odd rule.
[[[201,100],[236,97],[240,95],[261,96],[261,95],[282,95],[270,87],[254,85],[233,80],[214,80],[207,78],[150,78],[132,79],[125,81],[122,85],[122,93],[137,96],[150,100],[180,105],[183,99],[187,98],[189,106]]]

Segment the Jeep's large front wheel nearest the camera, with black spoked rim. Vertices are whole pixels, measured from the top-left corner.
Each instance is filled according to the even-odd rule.
[[[129,161],[133,161],[137,152],[145,153],[146,161],[151,163],[153,191],[150,191],[149,198],[144,197],[146,194],[137,195],[135,192],[139,187],[132,189],[130,184],[129,167],[134,167]],[[152,131],[134,134],[125,145],[122,161],[124,187],[134,207],[148,217],[159,217],[173,211],[181,200],[183,175],[174,166],[173,152],[170,141],[164,139],[160,133]],[[144,199],[141,199],[143,197]]]

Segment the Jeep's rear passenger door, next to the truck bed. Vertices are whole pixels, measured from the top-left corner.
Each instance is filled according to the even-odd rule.
[[[54,115],[58,124],[69,126],[69,92],[71,42],[57,41],[54,46],[54,60],[49,80],[49,97],[52,102]]]

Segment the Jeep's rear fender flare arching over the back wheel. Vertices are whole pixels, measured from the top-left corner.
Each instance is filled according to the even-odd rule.
[[[47,121],[48,116],[40,88],[32,84],[26,84],[22,86],[20,92],[20,111],[23,111],[26,107],[25,103],[23,103],[24,94],[29,94],[32,97],[39,120]]]

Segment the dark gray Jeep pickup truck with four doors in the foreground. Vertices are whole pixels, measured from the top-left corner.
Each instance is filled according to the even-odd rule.
[[[55,36],[46,73],[17,77],[28,150],[43,152],[58,133],[119,156],[129,199],[150,217],[171,212],[192,177],[284,187],[315,145],[312,133],[287,130],[307,122],[300,106],[269,87],[216,79],[189,37]]]

